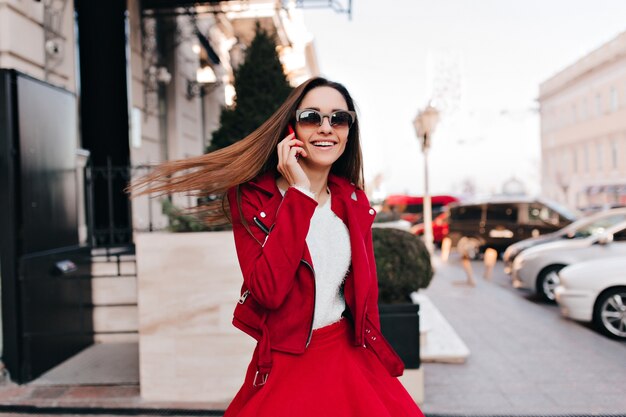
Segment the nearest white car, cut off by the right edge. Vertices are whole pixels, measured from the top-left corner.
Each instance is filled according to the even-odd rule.
[[[565,317],[593,322],[600,332],[626,340],[626,257],[571,265],[559,277],[554,293]]]

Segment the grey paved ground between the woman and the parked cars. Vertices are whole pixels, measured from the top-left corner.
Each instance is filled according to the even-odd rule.
[[[458,286],[458,257],[437,261],[424,291],[471,351],[465,364],[424,364],[426,413],[626,413],[626,343],[511,288],[501,263],[492,282],[473,268],[477,287]]]

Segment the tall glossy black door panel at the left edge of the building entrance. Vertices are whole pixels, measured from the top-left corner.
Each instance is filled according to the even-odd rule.
[[[3,361],[30,381],[93,343],[72,93],[0,70]]]

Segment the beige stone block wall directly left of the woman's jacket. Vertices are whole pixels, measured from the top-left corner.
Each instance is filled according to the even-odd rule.
[[[142,399],[225,407],[255,346],[231,324],[241,286],[232,233],[140,234],[136,243]]]

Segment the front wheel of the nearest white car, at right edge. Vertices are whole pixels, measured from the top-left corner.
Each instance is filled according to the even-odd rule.
[[[609,337],[626,340],[626,287],[612,288],[598,297],[593,324]]]

